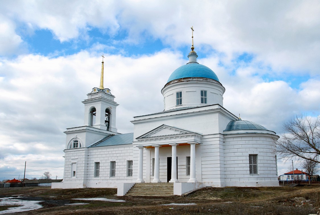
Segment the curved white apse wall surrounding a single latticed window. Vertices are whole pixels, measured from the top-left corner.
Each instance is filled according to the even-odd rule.
[[[226,186],[277,186],[275,138],[273,134],[226,135]],[[258,155],[258,174],[249,174],[249,154]]]

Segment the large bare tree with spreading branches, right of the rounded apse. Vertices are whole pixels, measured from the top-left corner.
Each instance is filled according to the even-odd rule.
[[[320,115],[300,115],[283,124],[285,133],[276,142],[280,158],[296,158],[320,163]]]

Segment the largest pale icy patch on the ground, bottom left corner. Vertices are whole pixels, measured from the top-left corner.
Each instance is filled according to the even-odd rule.
[[[23,211],[31,211],[42,208],[43,206],[39,204],[39,202],[43,201],[27,201],[27,200],[20,200],[20,199],[13,199],[17,197],[7,197],[7,198],[0,198],[0,205],[19,205],[18,207],[9,208],[5,211],[0,211],[0,214],[7,214],[7,213],[17,213]]]

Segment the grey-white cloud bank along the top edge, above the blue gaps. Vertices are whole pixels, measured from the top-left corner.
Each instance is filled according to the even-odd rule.
[[[60,41],[89,39],[87,31],[117,35],[125,42],[161,39],[179,47],[208,44],[226,54],[253,53],[257,60],[278,70],[318,73],[320,66],[320,6],[317,1],[12,1],[2,13],[33,29],[49,29]],[[17,6],[19,5],[19,6]],[[0,9],[1,10],[1,9]],[[11,33],[13,35],[13,33]],[[124,41],[122,41],[124,42]],[[10,44],[10,43],[9,43]]]

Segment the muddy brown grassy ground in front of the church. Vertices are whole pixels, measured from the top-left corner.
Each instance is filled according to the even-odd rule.
[[[36,200],[41,209],[15,213],[26,214],[270,214],[307,215],[320,211],[320,187],[223,187],[202,188],[188,196],[136,197],[115,196],[114,188],[50,189],[50,187],[1,188],[0,198],[25,196],[22,200]],[[125,202],[72,200],[73,198],[108,198]],[[294,200],[294,197],[303,199]],[[301,202],[302,201],[302,202]],[[85,202],[86,205],[65,205]],[[161,206],[169,203],[196,203],[187,206]],[[6,206],[0,206],[0,211]]]

